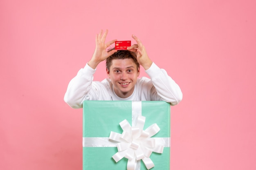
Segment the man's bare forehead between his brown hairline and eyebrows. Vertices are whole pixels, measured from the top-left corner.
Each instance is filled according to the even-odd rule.
[[[137,68],[135,62],[131,58],[114,59],[111,61],[110,69],[112,68]]]

